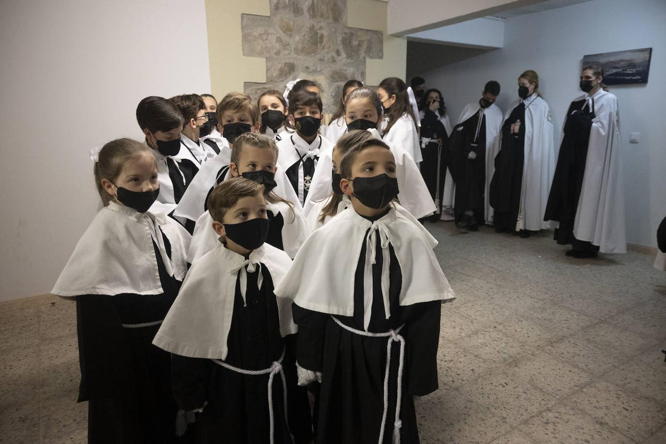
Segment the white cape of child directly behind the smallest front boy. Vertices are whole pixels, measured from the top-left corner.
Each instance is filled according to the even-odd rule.
[[[303,216],[298,206],[294,206],[292,211],[292,208],[284,202],[275,202],[274,204],[266,202],[266,208],[275,215],[278,213],[282,215],[284,221],[282,246],[284,252],[290,258],[294,258],[300,246],[310,236],[310,228],[305,216]],[[194,232],[192,232],[190,251],[187,254],[187,262],[190,264],[194,264],[196,260],[220,243],[220,236],[213,230],[212,222],[212,217],[208,211],[204,212],[196,221]]]

